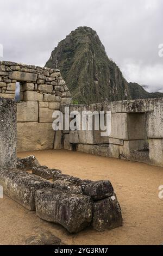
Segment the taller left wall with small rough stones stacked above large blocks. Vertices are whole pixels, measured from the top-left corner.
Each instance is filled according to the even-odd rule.
[[[17,103],[17,151],[53,149],[57,138],[52,113],[71,103],[60,71],[0,62],[0,97],[14,99],[16,82],[20,82],[21,100]]]

